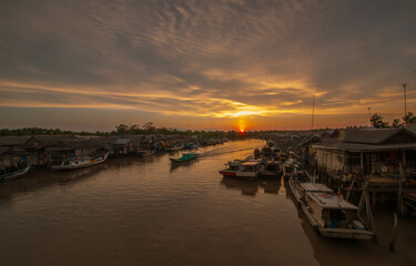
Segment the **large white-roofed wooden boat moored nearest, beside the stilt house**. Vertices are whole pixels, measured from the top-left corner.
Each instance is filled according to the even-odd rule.
[[[358,207],[321,183],[290,178],[294,200],[311,225],[324,237],[372,239],[374,232],[361,221]]]

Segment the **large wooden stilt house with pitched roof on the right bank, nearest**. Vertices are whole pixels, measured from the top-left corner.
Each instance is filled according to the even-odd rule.
[[[394,176],[399,164],[416,166],[416,134],[405,127],[348,130],[342,137],[321,139],[312,152],[327,172]]]

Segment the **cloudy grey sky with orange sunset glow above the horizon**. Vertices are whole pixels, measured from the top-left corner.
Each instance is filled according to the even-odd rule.
[[[392,121],[404,83],[416,112],[415,32],[410,0],[2,0],[0,129]]]

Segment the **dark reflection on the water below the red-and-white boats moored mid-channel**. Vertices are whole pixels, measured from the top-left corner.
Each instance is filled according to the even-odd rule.
[[[282,186],[280,180],[267,180],[267,181],[244,181],[237,178],[223,177],[221,184],[226,188],[237,190],[242,192],[242,195],[255,196],[261,190],[267,194],[278,194],[278,190]]]

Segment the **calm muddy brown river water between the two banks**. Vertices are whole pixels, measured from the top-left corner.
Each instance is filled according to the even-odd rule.
[[[0,184],[0,265],[416,265],[416,221],[390,209],[378,242],[326,239],[297,211],[284,180],[243,182],[217,171],[262,141],[170,156],[124,157]]]

